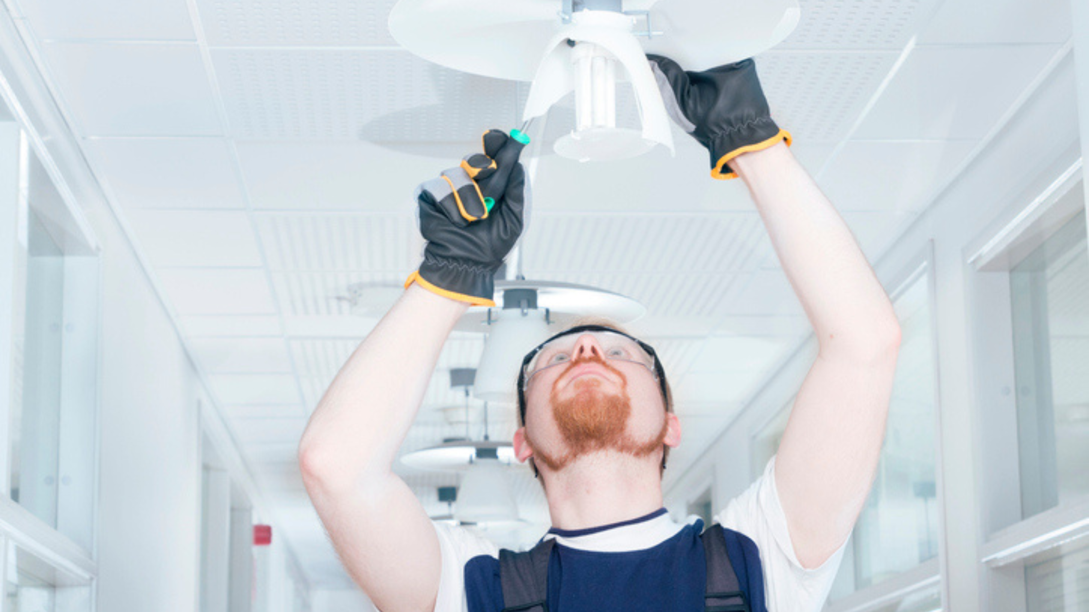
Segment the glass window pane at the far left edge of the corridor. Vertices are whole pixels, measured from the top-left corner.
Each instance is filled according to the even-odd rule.
[[[15,201],[8,474],[11,499],[93,550],[97,414],[98,258],[25,138]],[[13,223],[12,223],[13,221]]]

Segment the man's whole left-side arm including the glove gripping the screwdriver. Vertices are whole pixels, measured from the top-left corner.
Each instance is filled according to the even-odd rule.
[[[393,461],[443,343],[469,304],[493,304],[493,276],[522,232],[523,144],[499,131],[482,144],[485,155],[417,189],[424,261],[338,372],[298,446],[333,547],[383,612],[436,609],[439,539]]]

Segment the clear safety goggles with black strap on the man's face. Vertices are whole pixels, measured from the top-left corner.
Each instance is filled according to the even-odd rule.
[[[522,391],[538,374],[565,366],[574,359],[575,346],[584,335],[590,335],[609,362],[628,362],[644,366],[659,380],[658,356],[649,344],[603,326],[579,326],[546,340],[522,362]]]

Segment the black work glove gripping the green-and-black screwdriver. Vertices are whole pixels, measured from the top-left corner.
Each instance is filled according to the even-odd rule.
[[[416,188],[424,262],[405,281],[452,299],[494,306],[495,270],[522,234],[528,189],[518,163],[529,142],[500,130],[484,134],[484,154],[465,156]]]

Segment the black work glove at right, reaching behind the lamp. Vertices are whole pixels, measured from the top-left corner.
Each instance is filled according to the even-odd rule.
[[[688,72],[663,56],[648,54],[665,110],[711,152],[711,176],[736,179],[727,162],[792,137],[771,119],[751,58]]]

